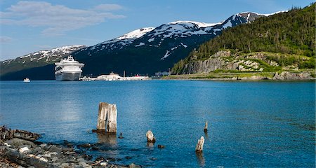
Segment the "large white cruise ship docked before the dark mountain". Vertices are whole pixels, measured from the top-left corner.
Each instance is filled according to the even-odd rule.
[[[84,66],[84,64],[75,61],[72,56],[56,62],[55,65],[55,78],[58,81],[79,80],[82,72],[81,67]]]

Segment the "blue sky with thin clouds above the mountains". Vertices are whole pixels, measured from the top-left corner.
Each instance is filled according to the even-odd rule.
[[[314,0],[0,0],[0,61],[65,45],[96,45],[178,20],[214,23],[235,13],[268,14]]]

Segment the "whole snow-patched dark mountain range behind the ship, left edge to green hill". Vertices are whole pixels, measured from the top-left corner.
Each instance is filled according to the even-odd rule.
[[[67,55],[85,64],[83,75],[98,76],[114,71],[127,75],[169,71],[173,64],[200,44],[221,34],[224,29],[252,22],[266,15],[237,13],[216,24],[192,21],[170,22],[159,27],[136,29],[93,46],[73,45],[53,50],[41,50],[0,62],[1,80],[54,79],[54,62]]]

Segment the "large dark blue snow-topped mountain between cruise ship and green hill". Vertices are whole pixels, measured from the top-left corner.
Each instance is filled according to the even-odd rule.
[[[131,31],[110,41],[77,50],[73,55],[85,62],[84,74],[98,75],[110,71],[153,74],[168,71],[193,48],[221,34],[224,29],[252,22],[263,16],[247,12],[237,13],[218,23],[169,22],[155,28]]]

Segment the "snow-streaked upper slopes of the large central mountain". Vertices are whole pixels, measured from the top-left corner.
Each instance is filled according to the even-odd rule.
[[[187,38],[190,36],[202,36],[202,35],[212,35],[217,36],[224,29],[228,27],[235,27],[239,24],[244,24],[254,21],[258,17],[262,17],[258,13],[244,12],[232,15],[227,20],[218,23],[205,23],[205,22],[195,22],[195,21],[176,21],[169,22],[167,24],[161,25],[159,27],[145,27],[141,29],[136,29],[114,38],[110,41],[104,41],[103,43],[98,43],[88,48],[81,49],[81,51],[86,51],[88,56],[92,56],[93,53],[97,52],[110,52],[111,50],[117,50],[126,48],[128,46],[140,47],[148,46],[152,48],[158,48],[162,45],[163,41],[168,38],[173,38],[177,40],[178,38]],[[134,43],[134,41],[139,41]],[[164,55],[161,55],[160,60],[165,60],[170,57],[175,50],[180,50],[181,48],[186,48],[187,45],[183,41],[171,45],[166,48]]]

